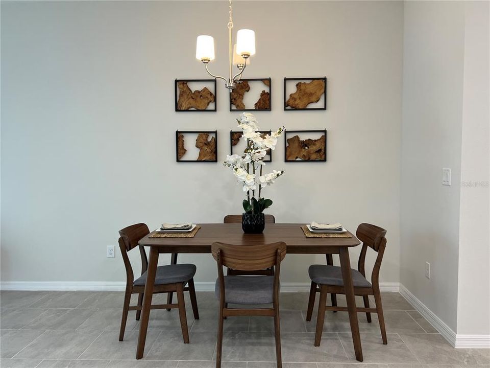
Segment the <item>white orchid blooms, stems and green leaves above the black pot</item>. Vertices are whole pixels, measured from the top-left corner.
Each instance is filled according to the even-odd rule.
[[[259,132],[260,128],[254,114],[249,112],[243,112],[236,121],[238,127],[243,130],[242,136],[247,140],[247,148],[243,155],[227,155],[223,165],[232,169],[243,192],[247,193],[247,199],[243,199],[243,210],[248,214],[259,214],[272,205],[272,200],[261,197],[262,189],[271,186],[275,179],[284,173],[284,170],[273,170],[262,174],[267,150],[276,148],[277,139],[284,127],[264,135]]]

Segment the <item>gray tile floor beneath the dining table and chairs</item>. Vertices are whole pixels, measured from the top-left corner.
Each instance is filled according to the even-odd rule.
[[[134,295],[135,296],[135,295]],[[198,292],[200,319],[186,299],[190,344],[184,344],[176,310],[152,311],[144,359],[136,361],[139,322],[130,312],[125,341],[118,341],[122,292],[2,291],[2,368],[212,368],[215,363],[217,302]],[[164,295],[155,299],[163,302]],[[339,305],[345,305],[338,296]],[[490,350],[454,349],[398,293],[382,295],[388,345],[378,318],[359,313],[363,364],[354,358],[347,313],[327,312],[320,347],[313,346],[316,310],[306,322],[307,293],[282,293],[284,368],[456,368],[490,367]],[[133,303],[135,300],[133,300]],[[362,301],[358,301],[361,305]],[[374,300],[372,300],[374,305]],[[223,368],[275,367],[274,325],[269,317],[225,321]]]

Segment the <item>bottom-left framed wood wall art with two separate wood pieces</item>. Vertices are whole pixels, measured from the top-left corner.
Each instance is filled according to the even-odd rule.
[[[217,162],[218,132],[176,130],[177,162]]]

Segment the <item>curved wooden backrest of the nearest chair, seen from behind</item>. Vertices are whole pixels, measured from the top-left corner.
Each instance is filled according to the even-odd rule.
[[[277,242],[265,245],[232,245],[213,243],[213,258],[222,266],[241,271],[277,266],[286,257],[286,243]]]

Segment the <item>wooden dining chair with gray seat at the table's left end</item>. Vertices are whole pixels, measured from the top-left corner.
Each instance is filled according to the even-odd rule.
[[[150,231],[148,226],[146,226],[144,223],[131,225],[119,231],[119,248],[121,249],[122,260],[124,261],[124,266],[126,268],[126,291],[124,295],[124,306],[122,308],[119,341],[124,339],[128,312],[130,310],[136,310],[136,320],[139,320],[141,316],[144,286],[146,283],[146,270],[148,269],[148,258],[146,258],[144,247],[138,245],[138,241],[148,234],[150,234]],[[131,262],[129,261],[128,252],[136,246],[138,246],[141,256],[141,276],[134,280],[133,268],[131,267]],[[173,291],[177,293],[177,304],[152,304],[151,309],[179,309],[180,327],[182,329],[184,343],[189,342],[184,291],[189,291],[194,319],[199,319],[198,302],[197,298],[195,297],[193,279],[195,270],[196,268],[193,264],[158,266],[155,277],[155,287],[153,289],[154,294]],[[136,306],[130,306],[131,294],[139,294],[138,304]]]

